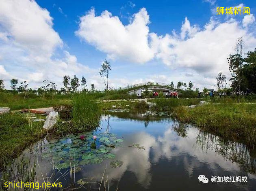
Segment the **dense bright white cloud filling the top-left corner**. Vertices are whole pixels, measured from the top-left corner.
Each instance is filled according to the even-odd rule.
[[[50,57],[62,45],[59,34],[52,28],[50,13],[34,0],[2,0],[1,30],[7,31],[17,46],[28,49],[33,56]]]

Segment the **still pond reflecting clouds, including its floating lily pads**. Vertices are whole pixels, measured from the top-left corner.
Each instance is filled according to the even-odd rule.
[[[13,161],[11,173],[15,181],[23,174],[23,182],[60,182],[59,190],[253,190],[255,161],[255,149],[166,112],[112,111],[95,132],[37,142]]]

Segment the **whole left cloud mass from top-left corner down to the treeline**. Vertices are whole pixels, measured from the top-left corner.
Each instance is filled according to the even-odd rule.
[[[64,75],[92,72],[76,56],[62,50],[63,41],[52,27],[50,13],[35,0],[1,1],[0,76],[5,83],[14,77],[28,81],[30,87],[40,87],[48,79],[60,87]],[[56,58],[58,48],[60,56]]]

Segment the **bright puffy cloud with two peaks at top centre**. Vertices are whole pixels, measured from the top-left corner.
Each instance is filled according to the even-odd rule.
[[[108,54],[108,58],[122,58],[137,63],[145,63],[154,57],[149,47],[149,15],[145,8],[133,15],[129,25],[123,25],[118,17],[103,11],[95,16],[92,9],[80,17],[76,35]]]

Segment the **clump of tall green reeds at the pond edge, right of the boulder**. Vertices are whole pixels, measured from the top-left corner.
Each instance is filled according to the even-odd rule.
[[[98,124],[100,106],[95,96],[89,93],[76,93],[72,98],[72,118],[79,124]]]

